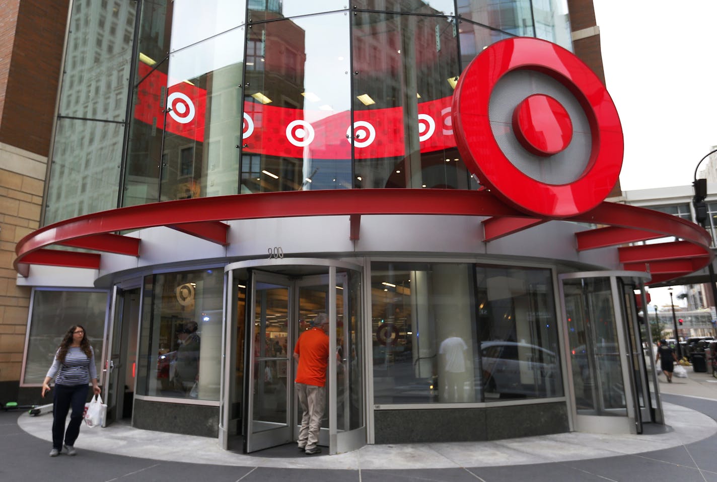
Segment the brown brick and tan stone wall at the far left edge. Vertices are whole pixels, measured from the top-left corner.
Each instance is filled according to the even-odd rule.
[[[39,227],[68,0],[0,0],[0,402],[20,379],[30,289],[16,243]]]

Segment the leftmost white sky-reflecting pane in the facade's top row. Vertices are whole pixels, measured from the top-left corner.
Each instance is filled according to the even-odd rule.
[[[243,25],[247,12],[244,0],[174,0],[169,52],[209,39]]]

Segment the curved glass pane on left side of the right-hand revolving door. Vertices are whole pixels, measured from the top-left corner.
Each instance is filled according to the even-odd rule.
[[[563,282],[579,415],[627,415],[609,281]]]

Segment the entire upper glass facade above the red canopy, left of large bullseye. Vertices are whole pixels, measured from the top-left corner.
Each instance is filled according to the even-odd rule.
[[[75,1],[43,223],[240,193],[478,188],[452,90],[516,35],[571,48],[564,2]]]

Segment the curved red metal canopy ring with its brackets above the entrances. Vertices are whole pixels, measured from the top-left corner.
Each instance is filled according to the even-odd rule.
[[[495,218],[495,221],[485,223],[489,226],[487,234],[489,240],[495,239],[498,235],[505,236],[508,233],[520,231],[521,228],[534,226],[537,222],[548,221],[547,219],[535,221],[534,218],[527,221],[524,213],[506,206],[490,191],[348,189],[192,198],[92,213],[45,226],[19,241],[15,248],[17,257],[14,266],[21,274],[27,273],[24,266],[39,261],[58,266],[78,266],[81,264],[80,261],[67,261],[67,258],[63,258],[62,255],[54,255],[57,258],[50,257],[49,259],[31,255],[38,251],[42,253],[45,247],[53,244],[85,242],[97,249],[98,243],[96,240],[92,240],[93,236],[152,226],[180,228],[185,232],[189,231],[194,236],[222,244],[222,231],[224,231],[223,242],[226,243],[226,228],[224,228],[226,225],[220,221],[227,219],[351,216],[350,236],[355,235],[358,238],[360,216],[380,214],[492,217]],[[505,221],[501,221],[504,218]],[[709,247],[711,238],[707,231],[695,223],[659,211],[623,204],[602,203],[592,211],[563,221],[594,223],[616,228],[612,230],[599,228],[599,230],[578,233],[576,236],[581,240],[579,241],[580,249],[625,244],[627,242],[625,240],[630,237],[645,239],[675,236],[682,238],[684,243],[673,244],[673,250],[670,251],[669,256],[665,253],[664,264],[660,265],[660,261],[650,261],[650,271],[656,276],[653,276],[652,281],[656,281],[657,277],[663,281],[661,273],[673,273],[670,276],[676,278],[696,271],[706,266],[713,257]],[[80,238],[86,237],[90,237],[90,241],[78,241]],[[114,249],[120,248],[115,247]],[[127,251],[130,250],[127,249]],[[82,267],[97,268],[99,256],[90,256],[97,257],[92,258],[92,263],[87,262]],[[647,256],[647,254],[642,256]],[[690,258],[691,266],[685,263],[677,264],[678,262],[673,258],[678,257]],[[638,270],[642,266],[642,270],[646,269],[644,263],[628,263],[627,266],[635,266],[635,269]]]

